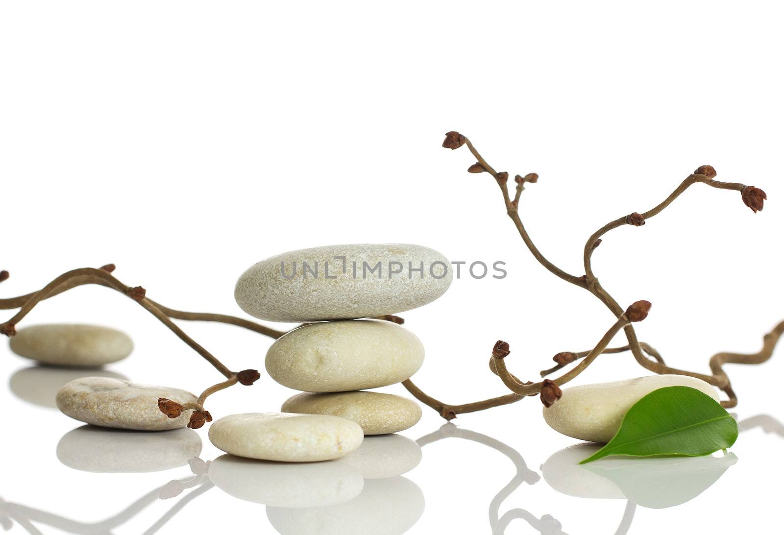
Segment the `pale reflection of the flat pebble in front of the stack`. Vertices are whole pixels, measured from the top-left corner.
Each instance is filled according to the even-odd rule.
[[[209,479],[240,500],[283,508],[318,508],[357,497],[364,480],[342,460],[276,463],[222,455],[209,465]]]

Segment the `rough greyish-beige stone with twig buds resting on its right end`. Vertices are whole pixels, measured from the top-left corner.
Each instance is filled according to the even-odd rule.
[[[158,409],[158,398],[180,403],[196,402],[196,396],[179,388],[136,384],[111,377],[82,377],[57,392],[57,408],[67,416],[103,428],[164,431],[184,428],[191,418],[186,410],[180,417],[166,417]]]

